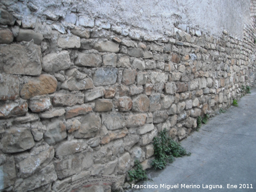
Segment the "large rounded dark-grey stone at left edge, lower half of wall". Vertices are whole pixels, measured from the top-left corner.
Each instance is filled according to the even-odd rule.
[[[35,143],[28,126],[13,126],[3,133],[1,144],[4,153],[17,153],[32,148]]]

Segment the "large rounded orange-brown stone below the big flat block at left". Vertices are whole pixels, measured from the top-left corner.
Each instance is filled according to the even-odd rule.
[[[24,84],[20,91],[20,97],[29,99],[36,95],[43,95],[55,92],[57,88],[57,79],[48,74],[32,77],[28,83]]]

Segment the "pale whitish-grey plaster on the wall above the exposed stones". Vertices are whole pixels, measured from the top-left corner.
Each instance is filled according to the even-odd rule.
[[[25,1],[14,4],[15,12],[26,12]],[[250,0],[33,0],[38,7],[36,15],[46,10],[62,17],[76,11],[114,23],[124,23],[149,31],[172,31],[173,23],[180,21],[190,27],[219,36],[225,28],[242,36],[244,23],[250,20]],[[22,8],[23,7],[23,8]]]

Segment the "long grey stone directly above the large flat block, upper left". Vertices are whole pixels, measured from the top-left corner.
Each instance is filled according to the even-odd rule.
[[[39,45],[43,40],[43,35],[41,33],[36,33],[32,29],[21,29],[19,30],[19,34],[16,37],[17,41],[31,41],[34,40],[34,43]]]

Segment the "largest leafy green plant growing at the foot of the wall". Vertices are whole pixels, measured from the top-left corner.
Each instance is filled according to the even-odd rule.
[[[153,144],[155,159],[152,162],[152,166],[155,169],[163,169],[167,162],[172,163],[174,161],[174,157],[190,156],[191,154],[168,136],[167,129],[161,131],[159,137],[154,138]]]

